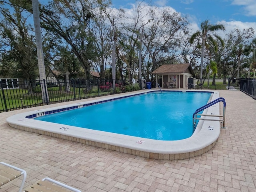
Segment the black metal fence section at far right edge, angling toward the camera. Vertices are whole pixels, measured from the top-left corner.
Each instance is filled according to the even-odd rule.
[[[256,99],[256,79],[255,78],[241,78],[240,91],[248,94]]]

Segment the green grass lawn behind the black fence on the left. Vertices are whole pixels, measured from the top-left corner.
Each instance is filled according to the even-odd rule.
[[[126,90],[116,89],[115,93],[119,92],[129,92],[133,88],[130,86],[126,87]],[[138,88],[136,88],[138,90]],[[48,88],[48,104],[53,104],[56,102],[64,102],[71,100],[79,100],[84,98],[94,98],[98,96],[105,96],[114,94],[112,88],[108,90],[100,90],[98,86],[91,86],[90,90],[86,90],[84,87],[70,87],[70,92],[64,91],[64,86],[62,90],[58,86]],[[1,105],[0,112],[6,111],[7,109],[24,108],[31,106],[43,105],[42,94],[40,86],[36,86],[33,92],[29,92],[28,89],[4,89],[0,91]],[[4,102],[4,98],[6,103]]]

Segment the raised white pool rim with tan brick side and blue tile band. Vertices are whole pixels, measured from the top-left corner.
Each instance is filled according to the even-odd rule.
[[[180,92],[187,91],[188,90],[183,90]],[[119,94],[107,98],[96,98],[90,101],[74,101],[73,104],[65,106],[45,108],[42,110],[34,110],[26,113],[17,114],[7,118],[6,121],[9,123],[10,126],[17,129],[154,159],[186,159],[203,154],[210,150],[216,144],[216,141],[220,134],[220,122],[218,121],[200,120],[194,134],[191,137],[182,140],[166,141],[140,138],[136,136],[128,136],[86,128],[81,129],[76,126],[67,126],[64,124],[37,121],[32,119],[36,116],[43,116],[47,113],[81,108],[92,104],[104,103],[106,101],[117,100],[120,98],[126,98],[150,92],[156,92],[156,90],[143,90],[128,94]],[[219,93],[216,91],[212,92],[212,97],[210,101],[217,98],[219,98]],[[218,115],[219,113],[219,104],[214,104],[203,112],[203,114],[216,115]],[[216,119],[217,117],[210,118]]]

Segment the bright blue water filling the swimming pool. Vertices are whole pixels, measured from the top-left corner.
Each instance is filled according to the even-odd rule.
[[[152,92],[35,118],[155,140],[192,136],[192,114],[210,92]]]

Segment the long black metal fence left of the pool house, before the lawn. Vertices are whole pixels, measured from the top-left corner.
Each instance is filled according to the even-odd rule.
[[[113,86],[113,83],[115,86]],[[144,89],[144,80],[1,80],[0,112]],[[47,85],[47,86],[46,86]],[[42,89],[48,92],[42,100]]]

